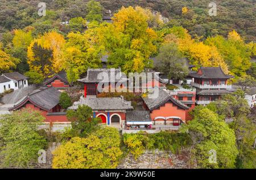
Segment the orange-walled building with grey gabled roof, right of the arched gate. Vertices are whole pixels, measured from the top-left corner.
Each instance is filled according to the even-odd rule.
[[[150,111],[154,125],[179,126],[184,123],[189,107],[176,100],[169,91],[155,88],[142,95],[144,108]]]

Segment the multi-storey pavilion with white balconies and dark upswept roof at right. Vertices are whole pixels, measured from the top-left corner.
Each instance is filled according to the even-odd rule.
[[[231,89],[232,86],[227,82],[234,77],[224,74],[221,67],[201,67],[189,76],[194,78],[191,85],[196,88],[197,105],[207,105],[220,99],[221,95],[230,93],[227,89]]]

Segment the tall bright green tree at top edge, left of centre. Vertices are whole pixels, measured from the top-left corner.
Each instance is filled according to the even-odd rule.
[[[90,0],[87,5],[86,5],[86,11],[88,12],[86,15],[86,20],[89,22],[92,21],[97,21],[101,22],[102,21],[102,6],[100,2]]]

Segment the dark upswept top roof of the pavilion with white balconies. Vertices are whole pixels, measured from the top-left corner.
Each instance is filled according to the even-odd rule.
[[[202,79],[229,79],[233,78],[233,76],[226,75],[222,71],[221,67],[201,67],[200,68],[202,74],[190,72],[189,76],[193,78],[202,78]]]

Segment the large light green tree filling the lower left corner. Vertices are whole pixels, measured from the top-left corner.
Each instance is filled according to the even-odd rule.
[[[34,110],[18,110],[0,118],[0,155],[3,166],[27,167],[46,147],[46,139],[38,134],[44,117]]]

